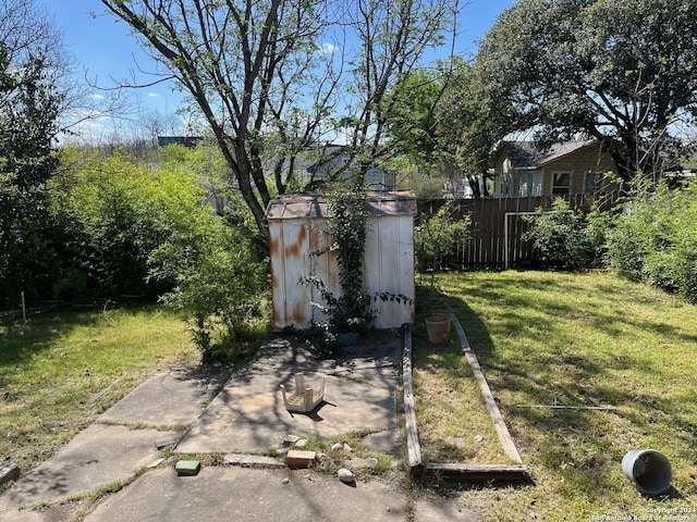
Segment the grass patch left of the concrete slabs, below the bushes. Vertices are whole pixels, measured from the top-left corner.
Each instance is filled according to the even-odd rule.
[[[3,462],[26,473],[148,376],[198,358],[181,318],[156,307],[3,318]]]

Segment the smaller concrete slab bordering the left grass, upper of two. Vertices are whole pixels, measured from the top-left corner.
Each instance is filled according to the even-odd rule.
[[[188,426],[198,419],[229,375],[229,371],[161,373],[131,391],[98,420],[117,424]]]

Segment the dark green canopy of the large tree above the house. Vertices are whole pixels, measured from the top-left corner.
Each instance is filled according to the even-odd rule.
[[[476,57],[482,101],[542,144],[602,140],[624,181],[660,173],[697,112],[694,0],[521,0]],[[668,162],[668,164],[667,164]]]

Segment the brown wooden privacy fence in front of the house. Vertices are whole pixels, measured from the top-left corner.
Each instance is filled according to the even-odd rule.
[[[525,216],[537,213],[539,209],[550,210],[558,197],[560,196],[454,200],[455,215],[469,214],[472,224],[469,238],[458,246],[456,256],[448,259],[447,264],[462,270],[475,270],[505,269],[534,262],[533,246],[530,241],[523,239],[529,229]],[[617,192],[572,194],[564,197],[570,208],[585,210],[594,204],[608,210],[617,198]],[[447,201],[419,199],[417,220],[438,212]]]

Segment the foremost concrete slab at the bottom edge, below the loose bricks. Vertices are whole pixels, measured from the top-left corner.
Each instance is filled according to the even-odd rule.
[[[204,468],[197,476],[178,477],[166,469],[138,477],[88,514],[85,522],[390,522],[405,520],[404,505],[404,495],[384,483],[358,482],[351,487],[334,476],[307,470]]]

